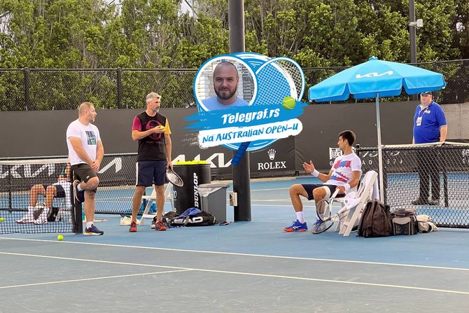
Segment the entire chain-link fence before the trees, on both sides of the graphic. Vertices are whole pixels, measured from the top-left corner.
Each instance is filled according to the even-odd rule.
[[[440,72],[447,88],[437,92],[440,104],[469,102],[469,60],[415,64]],[[347,67],[304,68],[306,88]],[[0,69],[1,111],[48,111],[76,109],[91,101],[99,109],[130,109],[144,106],[148,92],[163,96],[162,107],[194,106],[193,80],[197,69]],[[382,101],[416,99],[402,91],[400,97]],[[307,90],[303,101],[307,102]],[[349,102],[369,102],[369,99]],[[461,108],[453,108],[461,113]],[[459,114],[461,115],[461,114]]]

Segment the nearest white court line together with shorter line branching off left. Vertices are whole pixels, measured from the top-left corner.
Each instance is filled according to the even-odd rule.
[[[379,286],[379,287],[387,287],[387,288],[402,288],[402,289],[412,289],[412,290],[420,290],[420,291],[434,291],[434,292],[441,292],[441,293],[458,293],[463,295],[469,295],[468,291],[454,291],[454,290],[445,290],[445,289],[435,289],[435,288],[425,288],[425,287],[415,287],[415,286],[400,286],[400,285],[391,285],[391,284],[376,284],[376,283],[367,283],[367,282],[360,282],[360,281],[343,281],[343,280],[335,280],[335,279],[319,279],[319,278],[310,278],[310,277],[295,277],[295,276],[286,276],[286,275],[274,275],[274,274],[260,274],[260,273],[248,273],[248,272],[233,272],[227,270],[206,270],[202,268],[192,268],[192,267],[176,267],[176,266],[166,266],[166,265],[154,265],[154,264],[142,264],[142,263],[127,263],[127,262],[116,262],[116,261],[107,261],[107,260],[88,260],[84,258],[64,258],[61,256],[41,256],[37,254],[26,254],[26,253],[8,253],[8,252],[0,252],[1,254],[7,254],[12,256],[31,256],[36,258],[55,258],[59,260],[80,260],[84,262],[92,262],[92,263],[106,263],[106,264],[118,264],[118,265],[134,265],[134,266],[144,266],[144,267],[167,267],[172,268],[175,271],[170,272],[182,272],[182,271],[197,271],[197,272],[212,272],[218,274],[236,274],[236,275],[245,275],[245,276],[256,276],[256,277],[269,277],[269,278],[281,278],[281,279],[296,279],[296,280],[304,280],[304,281],[320,281],[320,282],[328,282],[328,283],[335,283],[335,284],[351,284],[351,285],[360,285],[360,286]],[[169,272],[169,271],[168,271]],[[162,273],[162,272],[156,272]],[[146,273],[152,274],[152,273]],[[133,274],[133,276],[142,275],[142,274]],[[120,275],[116,277],[127,277],[132,276],[129,275]],[[107,277],[96,277],[94,279],[104,279]],[[113,277],[109,277],[113,278]],[[72,279],[69,281],[82,281],[82,280],[93,280],[93,279]],[[36,284],[57,284],[61,282],[69,282],[69,281],[50,281],[48,283],[36,283]],[[25,285],[17,285],[17,286],[34,286],[36,284],[25,284]],[[0,288],[13,288],[14,286],[4,286]]]

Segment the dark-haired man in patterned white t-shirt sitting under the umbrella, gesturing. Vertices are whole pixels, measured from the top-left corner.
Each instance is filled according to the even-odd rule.
[[[311,173],[324,183],[321,184],[300,184],[297,183],[290,187],[290,199],[293,209],[296,213],[296,221],[292,225],[283,228],[285,232],[304,232],[308,230],[306,221],[303,217],[303,204],[300,195],[308,200],[316,202],[318,212],[324,213],[324,200],[328,199],[336,189],[339,190],[337,197],[344,197],[345,193],[358,185],[361,174],[361,161],[358,156],[353,153],[352,146],[355,142],[355,134],[351,130],[344,130],[339,133],[339,146],[342,155],[334,160],[332,168],[328,174],[319,173],[314,169],[313,162],[304,162],[303,167],[307,173]],[[316,223],[321,223],[320,220]]]

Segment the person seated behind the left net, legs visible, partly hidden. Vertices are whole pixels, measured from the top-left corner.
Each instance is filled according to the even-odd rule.
[[[31,187],[29,191],[29,206],[27,207],[28,211],[25,216],[20,218],[16,223],[18,224],[26,224],[26,223],[35,223],[35,224],[45,224],[47,223],[47,218],[50,209],[52,208],[52,202],[55,198],[64,198],[65,206],[67,208],[71,207],[71,199],[70,199],[70,164],[67,164],[62,172],[59,174],[59,179],[57,179],[57,183],[52,183],[52,185],[48,184],[37,184]],[[38,218],[34,218],[34,209],[38,202],[38,196],[43,195],[45,198],[45,205],[38,216]]]

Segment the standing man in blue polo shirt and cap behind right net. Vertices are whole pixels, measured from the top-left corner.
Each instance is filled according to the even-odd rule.
[[[440,106],[433,101],[432,92],[420,94],[419,106],[414,116],[414,137],[412,144],[429,144],[446,140],[448,125]],[[412,201],[414,205],[437,205],[440,202],[440,167],[435,151],[417,151],[417,166],[420,179],[419,198]],[[428,200],[429,190],[432,190],[432,200]]]

